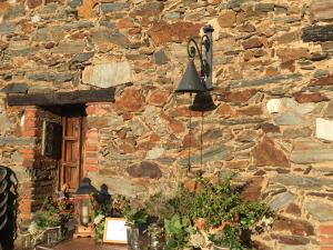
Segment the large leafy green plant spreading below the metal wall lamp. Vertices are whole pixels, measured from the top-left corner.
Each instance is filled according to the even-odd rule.
[[[234,250],[246,248],[244,231],[251,231],[263,217],[272,216],[269,207],[260,202],[244,202],[230,178],[212,183],[198,179],[199,188],[189,192],[180,187],[175,196],[164,203],[161,217],[168,238],[167,249],[182,249],[193,233],[193,224],[204,219],[205,229],[214,229],[210,240]]]

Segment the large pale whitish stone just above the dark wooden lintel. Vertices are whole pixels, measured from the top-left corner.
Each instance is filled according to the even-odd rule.
[[[132,74],[132,66],[128,61],[105,62],[85,67],[82,81],[99,88],[110,88],[131,82]]]

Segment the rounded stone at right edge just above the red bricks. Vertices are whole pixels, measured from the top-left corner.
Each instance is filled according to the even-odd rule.
[[[307,201],[305,208],[309,213],[321,222],[333,221],[333,207],[320,200]]]

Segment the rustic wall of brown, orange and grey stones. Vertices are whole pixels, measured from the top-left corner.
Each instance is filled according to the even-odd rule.
[[[206,177],[239,173],[244,197],[281,216],[258,237],[268,249],[333,249],[332,20],[332,0],[2,0],[0,84],[115,87],[114,103],[87,106],[84,172],[95,186],[142,199],[172,191],[189,147],[201,169],[202,146]],[[206,23],[218,108],[201,113],[173,91],[188,37]],[[22,129],[31,110],[3,100],[0,162],[24,183],[39,137]]]

